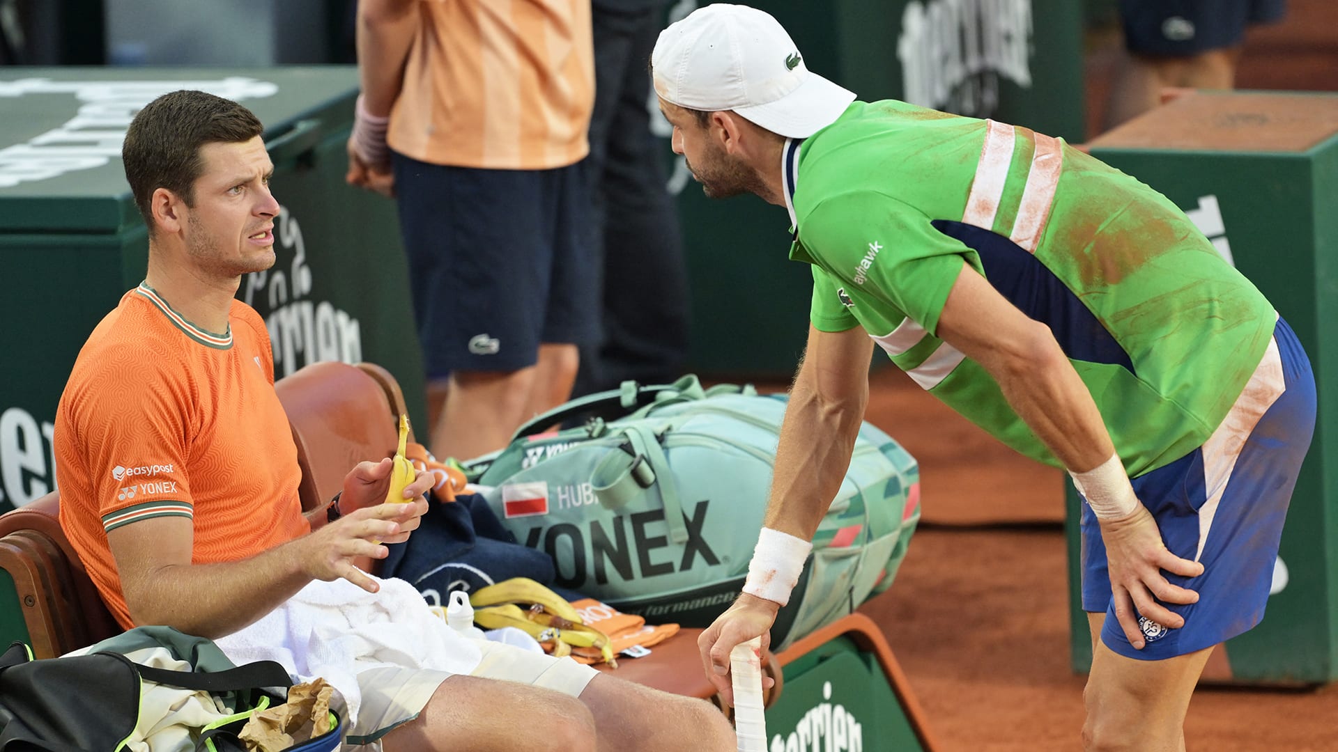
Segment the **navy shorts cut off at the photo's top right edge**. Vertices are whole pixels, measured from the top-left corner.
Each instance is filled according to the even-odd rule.
[[[1172,58],[1235,47],[1248,24],[1286,12],[1287,0],[1120,0],[1129,52]]]

